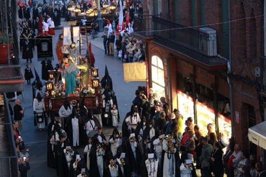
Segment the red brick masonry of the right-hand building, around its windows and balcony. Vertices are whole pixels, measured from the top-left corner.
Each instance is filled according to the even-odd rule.
[[[148,0],[150,2],[151,0]],[[171,19],[174,19],[174,11],[178,12],[178,18],[185,18],[185,20],[178,20],[178,23],[184,26],[191,26],[191,1],[187,0],[179,0],[178,1],[178,9],[174,9],[175,0],[171,0],[169,2],[170,5],[170,15]],[[145,2],[145,1],[143,1]],[[163,2],[163,1],[162,1]],[[201,19],[201,9],[200,2],[196,1],[196,14],[197,25],[200,24]],[[231,2],[231,20],[236,20],[231,23],[231,53],[232,53],[232,69],[233,73],[241,76],[249,78],[252,81],[260,82],[260,78],[255,77],[255,67],[260,67],[260,17],[256,17],[260,15],[260,8],[262,5],[258,5],[260,3],[259,0],[255,1],[255,3],[243,3],[241,5],[241,0],[230,1]],[[217,31],[218,41],[221,40],[225,36],[221,31],[221,1],[205,1],[205,24],[215,24],[210,25],[210,28],[213,28]],[[162,4],[162,12],[166,7],[166,3]],[[145,8],[144,8],[145,9]],[[146,9],[148,10],[148,9]],[[241,13],[240,13],[241,12]],[[252,13],[256,18],[252,20],[249,18]],[[239,21],[237,19],[246,17],[246,22]],[[252,23],[254,25],[252,25]],[[244,29],[243,29],[244,28]],[[246,36],[245,36],[246,35]],[[252,39],[255,40],[252,40]],[[255,43],[254,43],[255,41]],[[218,53],[220,53],[221,43],[218,42]],[[176,58],[175,56],[171,56],[171,54],[167,53],[166,50],[159,49],[154,47],[151,44],[148,47],[149,56],[151,57],[153,54],[160,55],[163,59],[169,57],[169,66],[166,66],[166,70],[170,70],[171,77],[171,96],[173,107],[176,107],[176,83],[179,82],[176,80],[176,73],[181,73],[186,77],[190,77],[190,74],[193,73],[193,63],[188,63],[185,59]],[[255,57],[254,58],[254,51]],[[152,55],[151,55],[152,54]],[[209,88],[211,88],[211,83],[217,84],[218,93],[229,98],[229,86],[227,80],[219,76],[216,76],[216,80],[212,72],[206,71],[200,67],[197,67],[195,70],[196,82],[201,83]],[[167,76],[167,75],[166,75]],[[167,77],[166,77],[167,79]],[[241,144],[242,146],[248,146],[247,143],[247,133],[248,133],[248,104],[254,106],[256,122],[260,122],[260,114],[259,114],[259,101],[258,101],[258,93],[256,87],[251,85],[242,79],[232,79],[233,82],[233,103],[234,110],[233,115],[235,119],[235,112],[239,113],[239,123],[235,123],[235,137],[236,142]]]

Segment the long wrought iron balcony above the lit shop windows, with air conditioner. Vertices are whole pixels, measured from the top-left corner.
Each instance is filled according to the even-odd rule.
[[[194,60],[207,67],[216,66],[216,69],[226,68],[227,61],[217,54],[216,33],[188,28],[154,15],[139,14],[135,22],[135,37],[150,38],[173,53],[188,56],[192,62]]]

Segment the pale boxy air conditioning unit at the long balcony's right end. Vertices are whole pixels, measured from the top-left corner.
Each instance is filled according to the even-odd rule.
[[[205,55],[217,56],[216,30],[211,28],[200,28],[200,31],[208,34],[208,38],[200,39],[200,50],[202,50]]]

